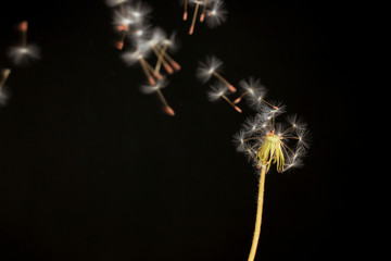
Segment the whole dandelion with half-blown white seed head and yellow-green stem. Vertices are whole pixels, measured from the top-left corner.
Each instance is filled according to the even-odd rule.
[[[237,150],[244,152],[261,170],[255,232],[249,261],[255,258],[261,234],[265,175],[272,165],[277,172],[285,172],[302,165],[301,159],[308,148],[306,124],[297,115],[288,116],[287,124],[276,123],[280,110],[269,108],[245,122],[235,135]]]

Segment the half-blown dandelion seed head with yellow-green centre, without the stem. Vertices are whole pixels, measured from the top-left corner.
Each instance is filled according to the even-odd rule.
[[[282,107],[279,102],[272,104],[278,104],[279,109]],[[248,153],[248,157],[252,156],[257,169],[264,166],[268,171],[272,165],[276,165],[278,172],[283,172],[302,165],[303,156],[308,148],[304,142],[307,130],[292,126],[291,122],[298,116],[289,116],[287,122],[276,122],[276,116],[281,111],[269,108],[249,117],[234,137],[238,151],[249,148],[255,151],[254,154]],[[302,120],[300,125],[305,125]]]

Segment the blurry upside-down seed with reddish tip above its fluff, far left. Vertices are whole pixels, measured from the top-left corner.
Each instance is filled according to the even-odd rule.
[[[16,29],[22,34],[22,45],[12,47],[8,54],[15,65],[27,65],[29,62],[40,58],[40,51],[37,46],[27,45],[27,21],[20,23]]]

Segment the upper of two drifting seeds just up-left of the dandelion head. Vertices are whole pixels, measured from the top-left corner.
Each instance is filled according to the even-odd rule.
[[[223,66],[223,62],[215,57],[206,57],[205,61],[199,63],[197,70],[197,77],[206,83],[212,76],[215,76],[218,80],[225,84],[231,92],[236,91],[236,88],[228,83],[217,71]]]

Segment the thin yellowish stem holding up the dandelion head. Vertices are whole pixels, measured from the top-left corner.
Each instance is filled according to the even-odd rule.
[[[261,234],[261,224],[262,224],[262,211],[264,202],[264,190],[265,190],[265,176],[266,176],[266,166],[262,166],[261,176],[260,176],[260,189],[258,189],[258,199],[257,199],[257,209],[256,209],[256,220],[255,220],[255,231],[254,237],[251,245],[250,256],[248,261],[253,261],[256,253],[257,244],[260,240]]]

